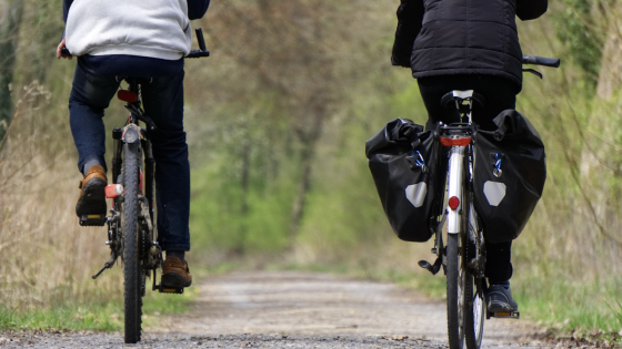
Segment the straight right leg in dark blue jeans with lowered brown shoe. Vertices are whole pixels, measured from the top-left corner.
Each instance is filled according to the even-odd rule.
[[[183,70],[142,85],[144,112],[157,125],[151,132],[156,158],[159,243],[167,252],[162,285],[192,284],[184,253],[190,250],[190,164],[183,131]]]

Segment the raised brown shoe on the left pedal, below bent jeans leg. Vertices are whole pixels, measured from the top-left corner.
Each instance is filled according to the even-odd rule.
[[[79,188],[81,191],[78,197],[78,204],[76,204],[76,214],[78,217],[82,215],[106,215],[107,185],[108,178],[106,177],[103,167],[98,165],[91,166],[84,179],[80,182]]]

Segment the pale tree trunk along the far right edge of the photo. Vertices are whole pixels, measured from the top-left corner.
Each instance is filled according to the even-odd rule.
[[[618,155],[622,131],[618,126],[622,121],[619,104],[622,86],[622,1],[613,1],[605,9],[608,32],[603,47],[596,95],[592,103],[588,130],[584,132],[584,148],[580,158],[581,178],[579,181],[584,205],[580,209],[594,234],[606,238],[618,246],[622,239],[611,234],[620,227],[619,176],[622,158]],[[582,130],[585,131],[585,130]],[[598,232],[598,233],[596,233]]]

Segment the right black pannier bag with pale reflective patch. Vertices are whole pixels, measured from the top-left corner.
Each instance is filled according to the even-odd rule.
[[[490,243],[506,243],[523,230],[546,179],[544,144],[521,113],[501,112],[496,131],[475,136],[474,205]]]

